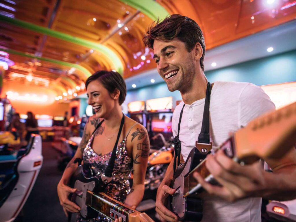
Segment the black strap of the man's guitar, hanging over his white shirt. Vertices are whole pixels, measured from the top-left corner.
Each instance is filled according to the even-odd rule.
[[[198,135],[198,141],[196,141],[196,146],[197,149],[200,151],[201,158],[204,159],[205,156],[207,155],[208,151],[211,149],[204,149],[198,147],[198,145],[203,144],[204,145],[210,145],[210,97],[211,97],[211,83],[207,82],[207,91],[206,91],[206,96],[205,96],[205,107],[204,107],[204,112],[203,112],[203,118],[202,118],[202,128],[200,131],[200,134]],[[183,110],[184,110],[185,104],[183,105],[183,108],[180,112],[180,117],[179,117],[179,123],[178,123],[178,133],[177,136],[173,139],[173,144],[174,144],[174,150],[175,150],[175,155],[174,155],[174,175],[176,173],[176,159],[178,156],[178,164],[180,164],[180,155],[181,155],[181,141],[179,140],[179,133],[180,133],[180,124],[181,124],[181,119],[183,115]],[[206,152],[205,152],[206,151]]]

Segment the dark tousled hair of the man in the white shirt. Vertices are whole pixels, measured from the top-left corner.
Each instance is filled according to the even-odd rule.
[[[205,38],[199,25],[186,16],[174,14],[166,17],[162,22],[157,19],[146,31],[143,38],[145,46],[153,49],[154,40],[171,41],[178,38],[185,43],[186,49],[190,52],[197,42],[202,46],[202,57],[200,58],[200,66],[204,71],[205,58]]]

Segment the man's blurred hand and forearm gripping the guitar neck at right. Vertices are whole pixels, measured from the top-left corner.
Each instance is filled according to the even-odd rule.
[[[207,156],[206,167],[222,186],[207,183],[198,173],[194,173],[194,177],[209,194],[231,202],[246,197],[289,200],[291,199],[289,193],[291,194],[292,189],[295,189],[291,186],[292,180],[294,180],[292,175],[295,175],[296,172],[293,154],[295,154],[295,150],[280,160],[270,163],[266,160],[274,171],[274,173],[268,173],[263,170],[259,161],[241,166],[227,157],[222,150],[219,150],[215,155]],[[288,187],[291,188],[290,192]]]

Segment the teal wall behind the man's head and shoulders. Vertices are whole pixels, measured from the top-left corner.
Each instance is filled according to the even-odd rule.
[[[258,86],[296,81],[296,50],[207,71],[205,75],[210,82],[250,82]],[[179,91],[170,92],[163,82],[129,90],[124,104],[166,96],[173,96],[173,104],[182,99]]]

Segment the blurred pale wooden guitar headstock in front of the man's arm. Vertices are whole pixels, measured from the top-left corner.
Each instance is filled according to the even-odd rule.
[[[261,115],[234,133],[236,156],[251,163],[280,158],[296,143],[296,102]]]

